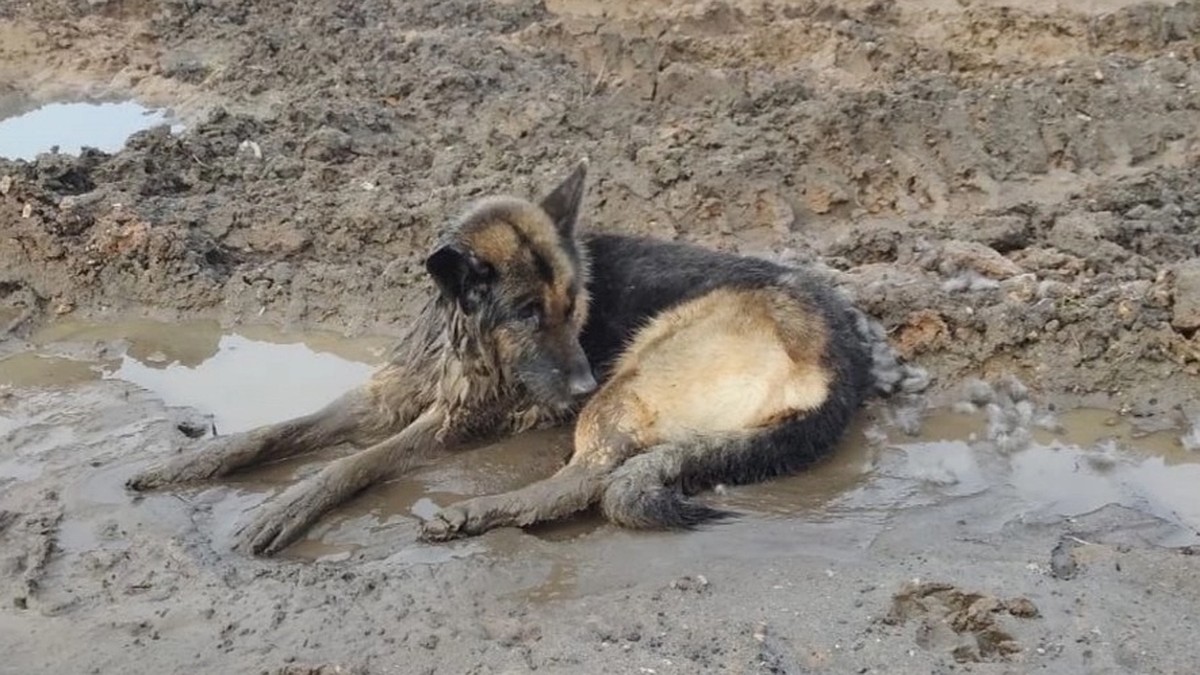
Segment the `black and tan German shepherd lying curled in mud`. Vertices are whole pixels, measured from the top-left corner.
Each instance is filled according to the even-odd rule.
[[[816,275],[763,259],[580,234],[587,161],[540,203],[493,197],[443,233],[430,300],[390,363],[323,410],[210,440],[128,480],[148,490],[349,442],[260,508],[270,555],[325,512],[439,453],[575,420],[557,473],[442,509],[444,540],[599,506],[636,528],[727,515],[694,498],[828,455],[872,394],[919,390],[882,328]],[[599,380],[599,384],[598,384]]]

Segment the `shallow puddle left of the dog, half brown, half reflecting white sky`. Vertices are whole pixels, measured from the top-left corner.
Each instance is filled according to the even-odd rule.
[[[212,417],[218,432],[306,414],[365,382],[390,345],[266,327],[226,333],[215,322],[62,322],[30,338],[35,351],[0,359],[0,384],[125,380],[172,406]],[[53,356],[52,356],[53,354]]]

